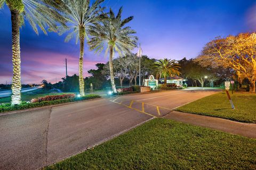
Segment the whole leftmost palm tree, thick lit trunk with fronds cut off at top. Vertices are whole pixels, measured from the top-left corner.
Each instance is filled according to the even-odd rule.
[[[12,22],[12,105],[21,102],[21,78],[20,78],[20,27],[28,20],[36,34],[37,25],[46,34],[45,27],[56,27],[56,21],[64,23],[57,11],[40,0],[0,0],[0,9],[6,4],[11,12]]]

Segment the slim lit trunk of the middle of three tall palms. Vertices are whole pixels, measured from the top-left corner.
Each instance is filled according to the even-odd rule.
[[[79,28],[80,39],[80,56],[79,56],[79,92],[84,96],[84,77],[83,77],[83,64],[84,64],[84,28]]]

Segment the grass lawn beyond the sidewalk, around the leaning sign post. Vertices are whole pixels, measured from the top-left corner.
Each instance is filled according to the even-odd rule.
[[[231,109],[225,92],[213,94],[186,104],[176,110],[198,115],[220,117],[238,122],[256,123],[256,94],[231,94],[235,109]]]

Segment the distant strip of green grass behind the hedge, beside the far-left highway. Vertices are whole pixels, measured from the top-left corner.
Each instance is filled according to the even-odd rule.
[[[31,99],[41,98],[46,95],[61,95],[61,94],[68,94],[68,93],[37,93],[35,91],[25,92],[25,93],[21,93],[21,100],[30,101]],[[0,98],[0,103],[9,103],[9,102],[11,102],[11,96],[6,98]]]

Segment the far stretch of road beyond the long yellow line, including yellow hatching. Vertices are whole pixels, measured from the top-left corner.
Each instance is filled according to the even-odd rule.
[[[212,95],[217,91],[207,90],[172,90],[155,93],[119,96],[113,102],[140,110],[146,114],[161,117],[183,104]]]

